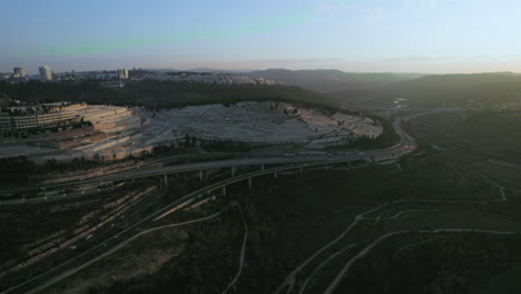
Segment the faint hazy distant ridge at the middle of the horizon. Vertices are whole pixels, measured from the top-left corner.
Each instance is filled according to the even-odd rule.
[[[305,89],[335,92],[342,90],[374,90],[392,82],[422,77],[421,74],[357,74],[336,69],[287,70],[267,69],[249,74],[253,78],[265,78]]]

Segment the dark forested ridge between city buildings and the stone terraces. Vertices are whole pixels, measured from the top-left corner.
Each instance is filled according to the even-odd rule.
[[[206,85],[171,81],[132,81],[122,89],[104,89],[99,82],[59,82],[9,85],[0,82],[0,92],[29,102],[86,101],[146,107],[184,107],[243,100],[303,101],[336,106],[333,98],[284,85]]]

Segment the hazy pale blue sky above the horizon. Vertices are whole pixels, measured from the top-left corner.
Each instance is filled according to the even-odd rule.
[[[521,71],[520,0],[0,0],[0,71]]]

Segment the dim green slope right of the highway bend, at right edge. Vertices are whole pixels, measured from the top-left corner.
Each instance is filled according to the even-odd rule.
[[[448,160],[469,165],[513,192],[521,189],[521,116],[517,111],[429,115],[405,127],[422,146]]]

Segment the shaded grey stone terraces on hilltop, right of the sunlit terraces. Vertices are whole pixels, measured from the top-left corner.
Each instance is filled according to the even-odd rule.
[[[382,127],[370,118],[297,108],[275,102],[239,102],[225,107],[206,105],[156,112],[144,130],[156,134],[155,141],[183,139],[186,134],[205,139],[248,143],[299,143],[321,147],[354,135],[377,137]],[[273,109],[271,108],[273,107]],[[284,114],[287,110],[288,115]],[[342,121],[342,125],[338,125]]]

